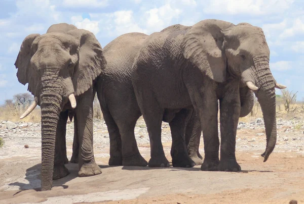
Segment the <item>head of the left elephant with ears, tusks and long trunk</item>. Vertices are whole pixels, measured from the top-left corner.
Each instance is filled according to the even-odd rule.
[[[55,24],[46,34],[30,34],[23,40],[15,62],[17,78],[23,85],[28,83],[35,101],[21,118],[36,105],[41,106],[42,190],[52,187],[60,112],[63,107],[76,107],[77,96],[92,87],[105,65],[102,47],[94,34],[72,25]]]

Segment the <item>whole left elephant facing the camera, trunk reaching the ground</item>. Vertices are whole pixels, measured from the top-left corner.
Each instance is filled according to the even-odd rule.
[[[41,189],[51,190],[53,178],[69,173],[64,164],[70,115],[77,118],[79,176],[101,174],[93,154],[93,98],[95,80],[106,60],[95,35],[66,23],[54,24],[45,34],[25,37],[15,66],[18,81],[28,83],[28,91],[35,98],[20,119],[35,106],[41,107]]]

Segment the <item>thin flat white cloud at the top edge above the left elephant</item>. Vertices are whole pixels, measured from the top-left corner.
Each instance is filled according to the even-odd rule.
[[[64,0],[63,6],[73,8],[101,8],[108,5],[107,0]]]

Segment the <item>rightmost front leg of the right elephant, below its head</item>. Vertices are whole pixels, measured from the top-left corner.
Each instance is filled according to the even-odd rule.
[[[219,171],[240,171],[236,160],[236,135],[240,116],[240,96],[238,81],[224,88],[220,99],[220,162]]]

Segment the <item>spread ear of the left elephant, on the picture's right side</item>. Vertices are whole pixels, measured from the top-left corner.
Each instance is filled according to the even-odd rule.
[[[72,76],[75,95],[80,95],[93,85],[93,80],[101,74],[106,66],[102,47],[95,35],[84,29],[67,32],[80,40],[79,62]]]

